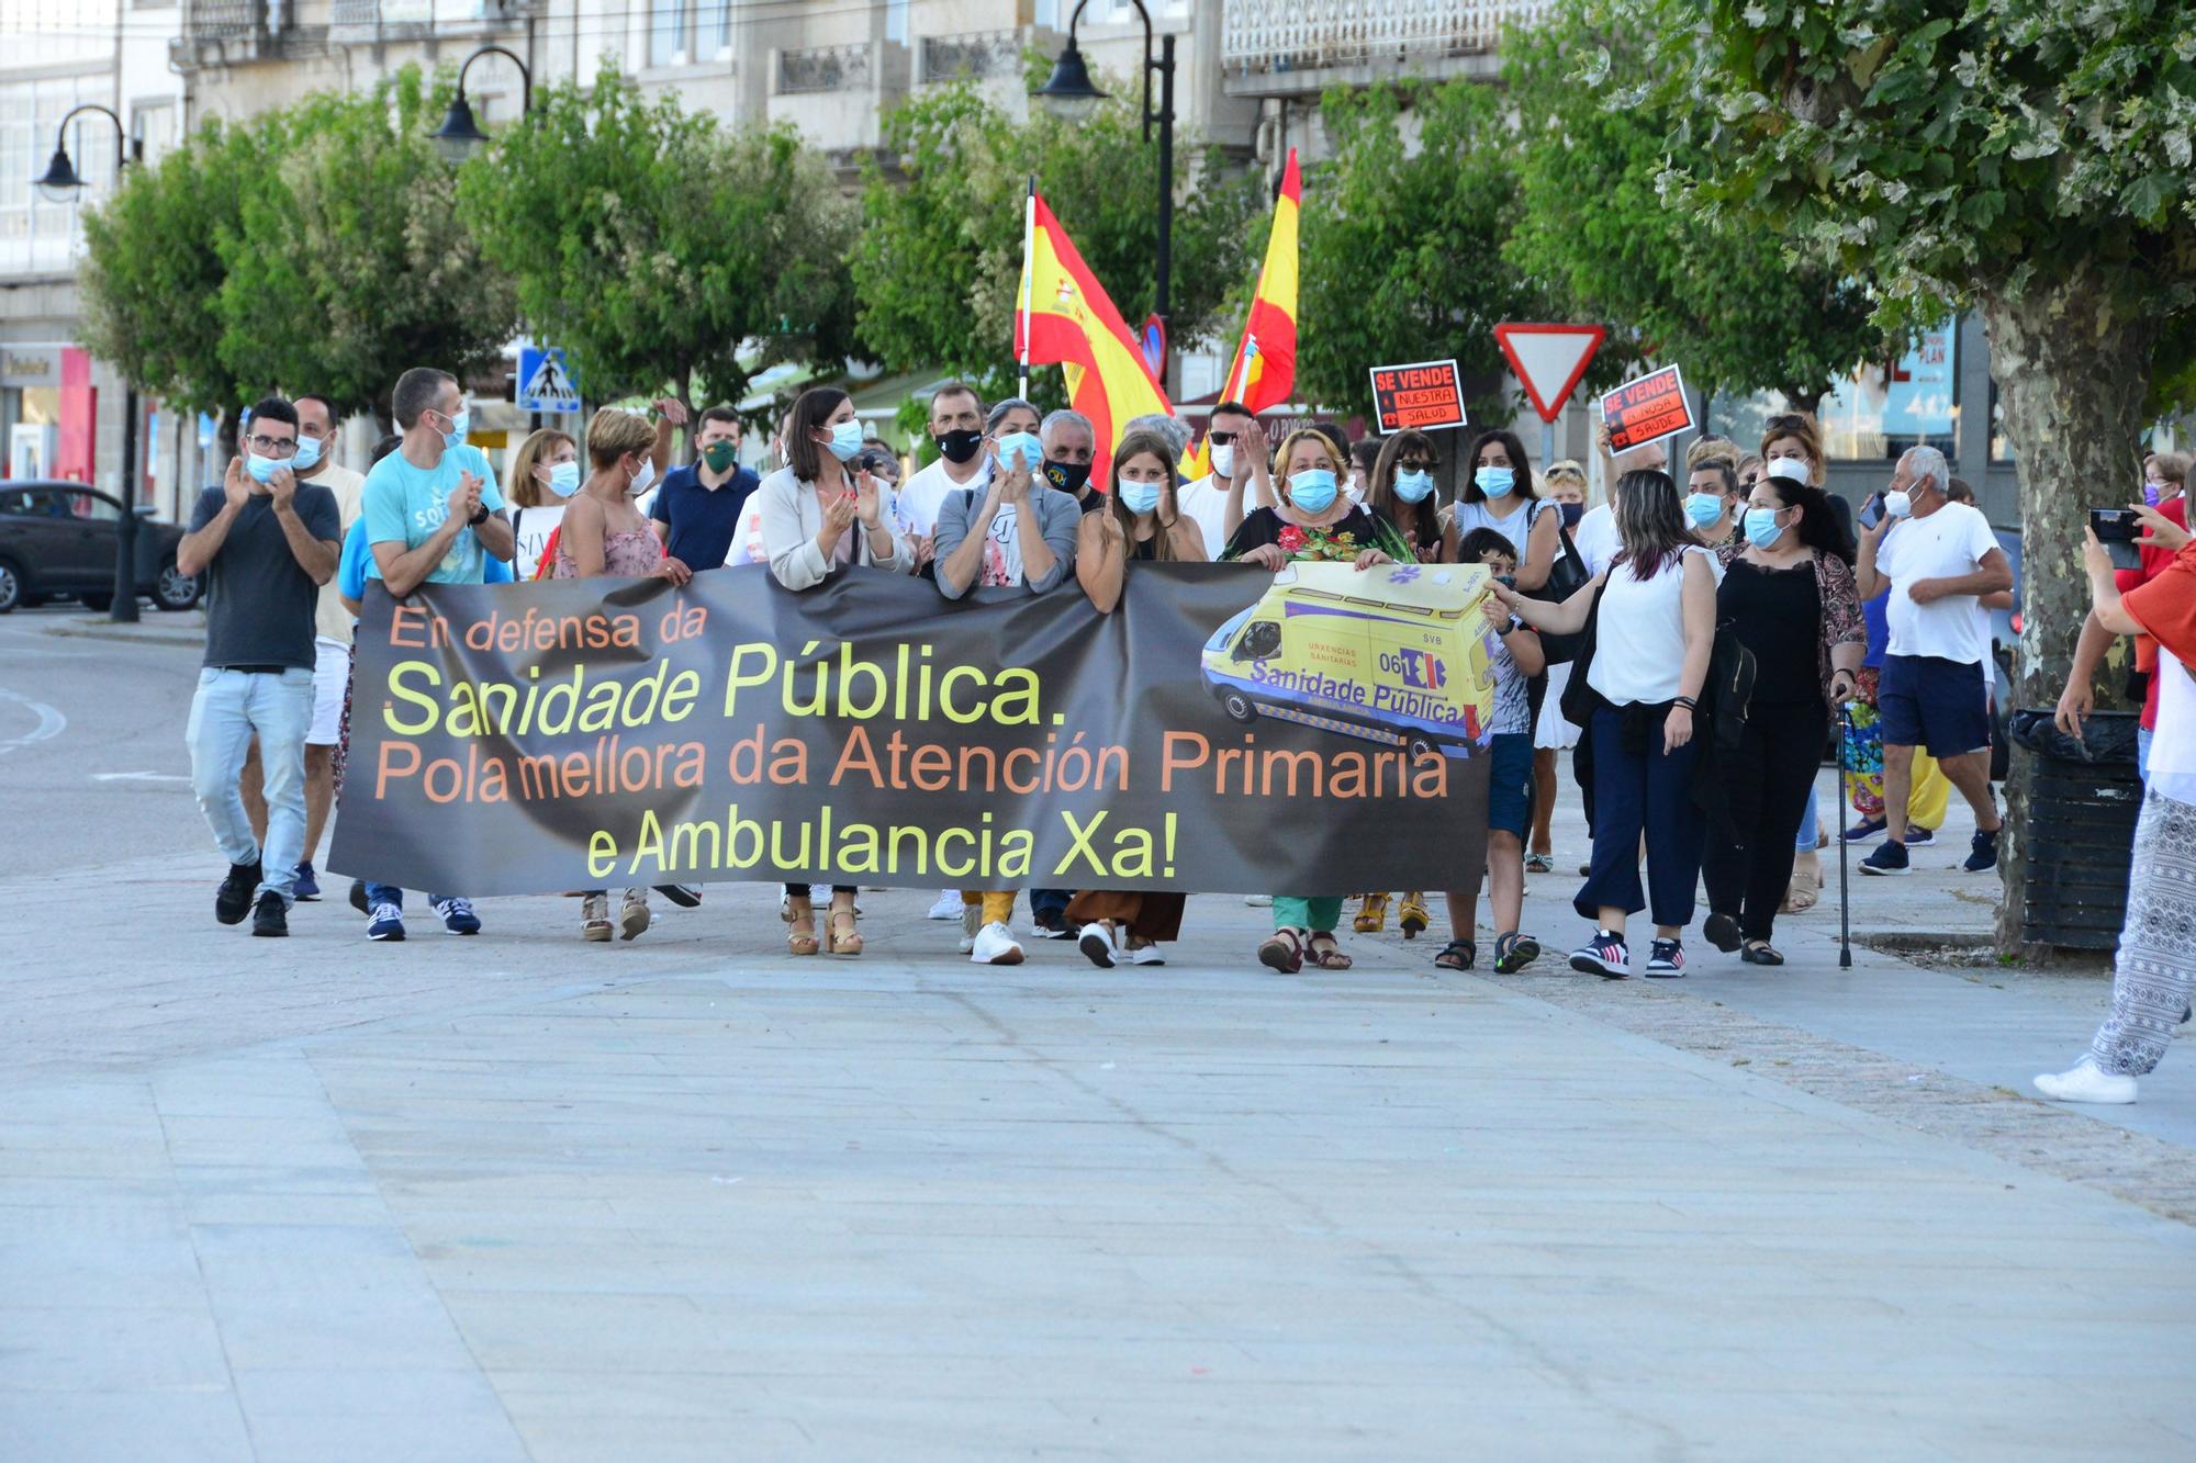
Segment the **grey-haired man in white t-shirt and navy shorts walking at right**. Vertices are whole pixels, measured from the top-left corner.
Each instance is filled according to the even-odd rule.
[[[1882,494],[1882,514],[1860,532],[1860,598],[1889,582],[1884,655],[1875,707],[1884,729],[1884,841],[1862,874],[1904,874],[1906,791],[1915,747],[1928,747],[1974,808],[1970,874],[1996,868],[2005,828],[1990,797],[1990,692],[1983,683],[1981,600],[2014,587],[1990,521],[1948,492],[1952,468],[1930,446],[1908,448]]]

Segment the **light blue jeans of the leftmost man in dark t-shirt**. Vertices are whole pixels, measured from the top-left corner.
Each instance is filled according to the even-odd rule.
[[[259,894],[281,894],[294,903],[296,863],[305,857],[305,732],[312,729],[312,670],[305,666],[266,670],[198,672],[191,721],[182,740],[191,747],[191,793],[213,828],[213,846],[231,863],[259,863]],[[244,813],[237,778],[244,753],[259,734],[259,767],[266,782],[268,844],[259,848],[253,819]]]

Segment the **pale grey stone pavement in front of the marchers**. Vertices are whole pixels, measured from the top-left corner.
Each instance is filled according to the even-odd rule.
[[[920,892],[793,960],[760,885],[277,945],[209,863],[0,885],[4,1456],[2196,1450],[2196,1059],[2020,1096],[2097,980],[1838,973],[1834,903],[1676,984],[1276,978],[1230,896],[1105,973]]]

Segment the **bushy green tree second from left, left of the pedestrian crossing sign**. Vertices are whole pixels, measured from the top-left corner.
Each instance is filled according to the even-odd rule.
[[[457,215],[457,178],[428,138],[439,112],[406,66],[255,130],[261,165],[217,239],[222,356],[255,391],[318,391],[386,426],[406,369],[468,380],[501,358],[518,312]]]

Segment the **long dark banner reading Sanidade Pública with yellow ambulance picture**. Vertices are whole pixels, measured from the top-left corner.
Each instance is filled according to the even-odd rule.
[[[1111,615],[854,569],[369,587],[329,868],[1346,894],[1487,841],[1487,571],[1135,565]]]

